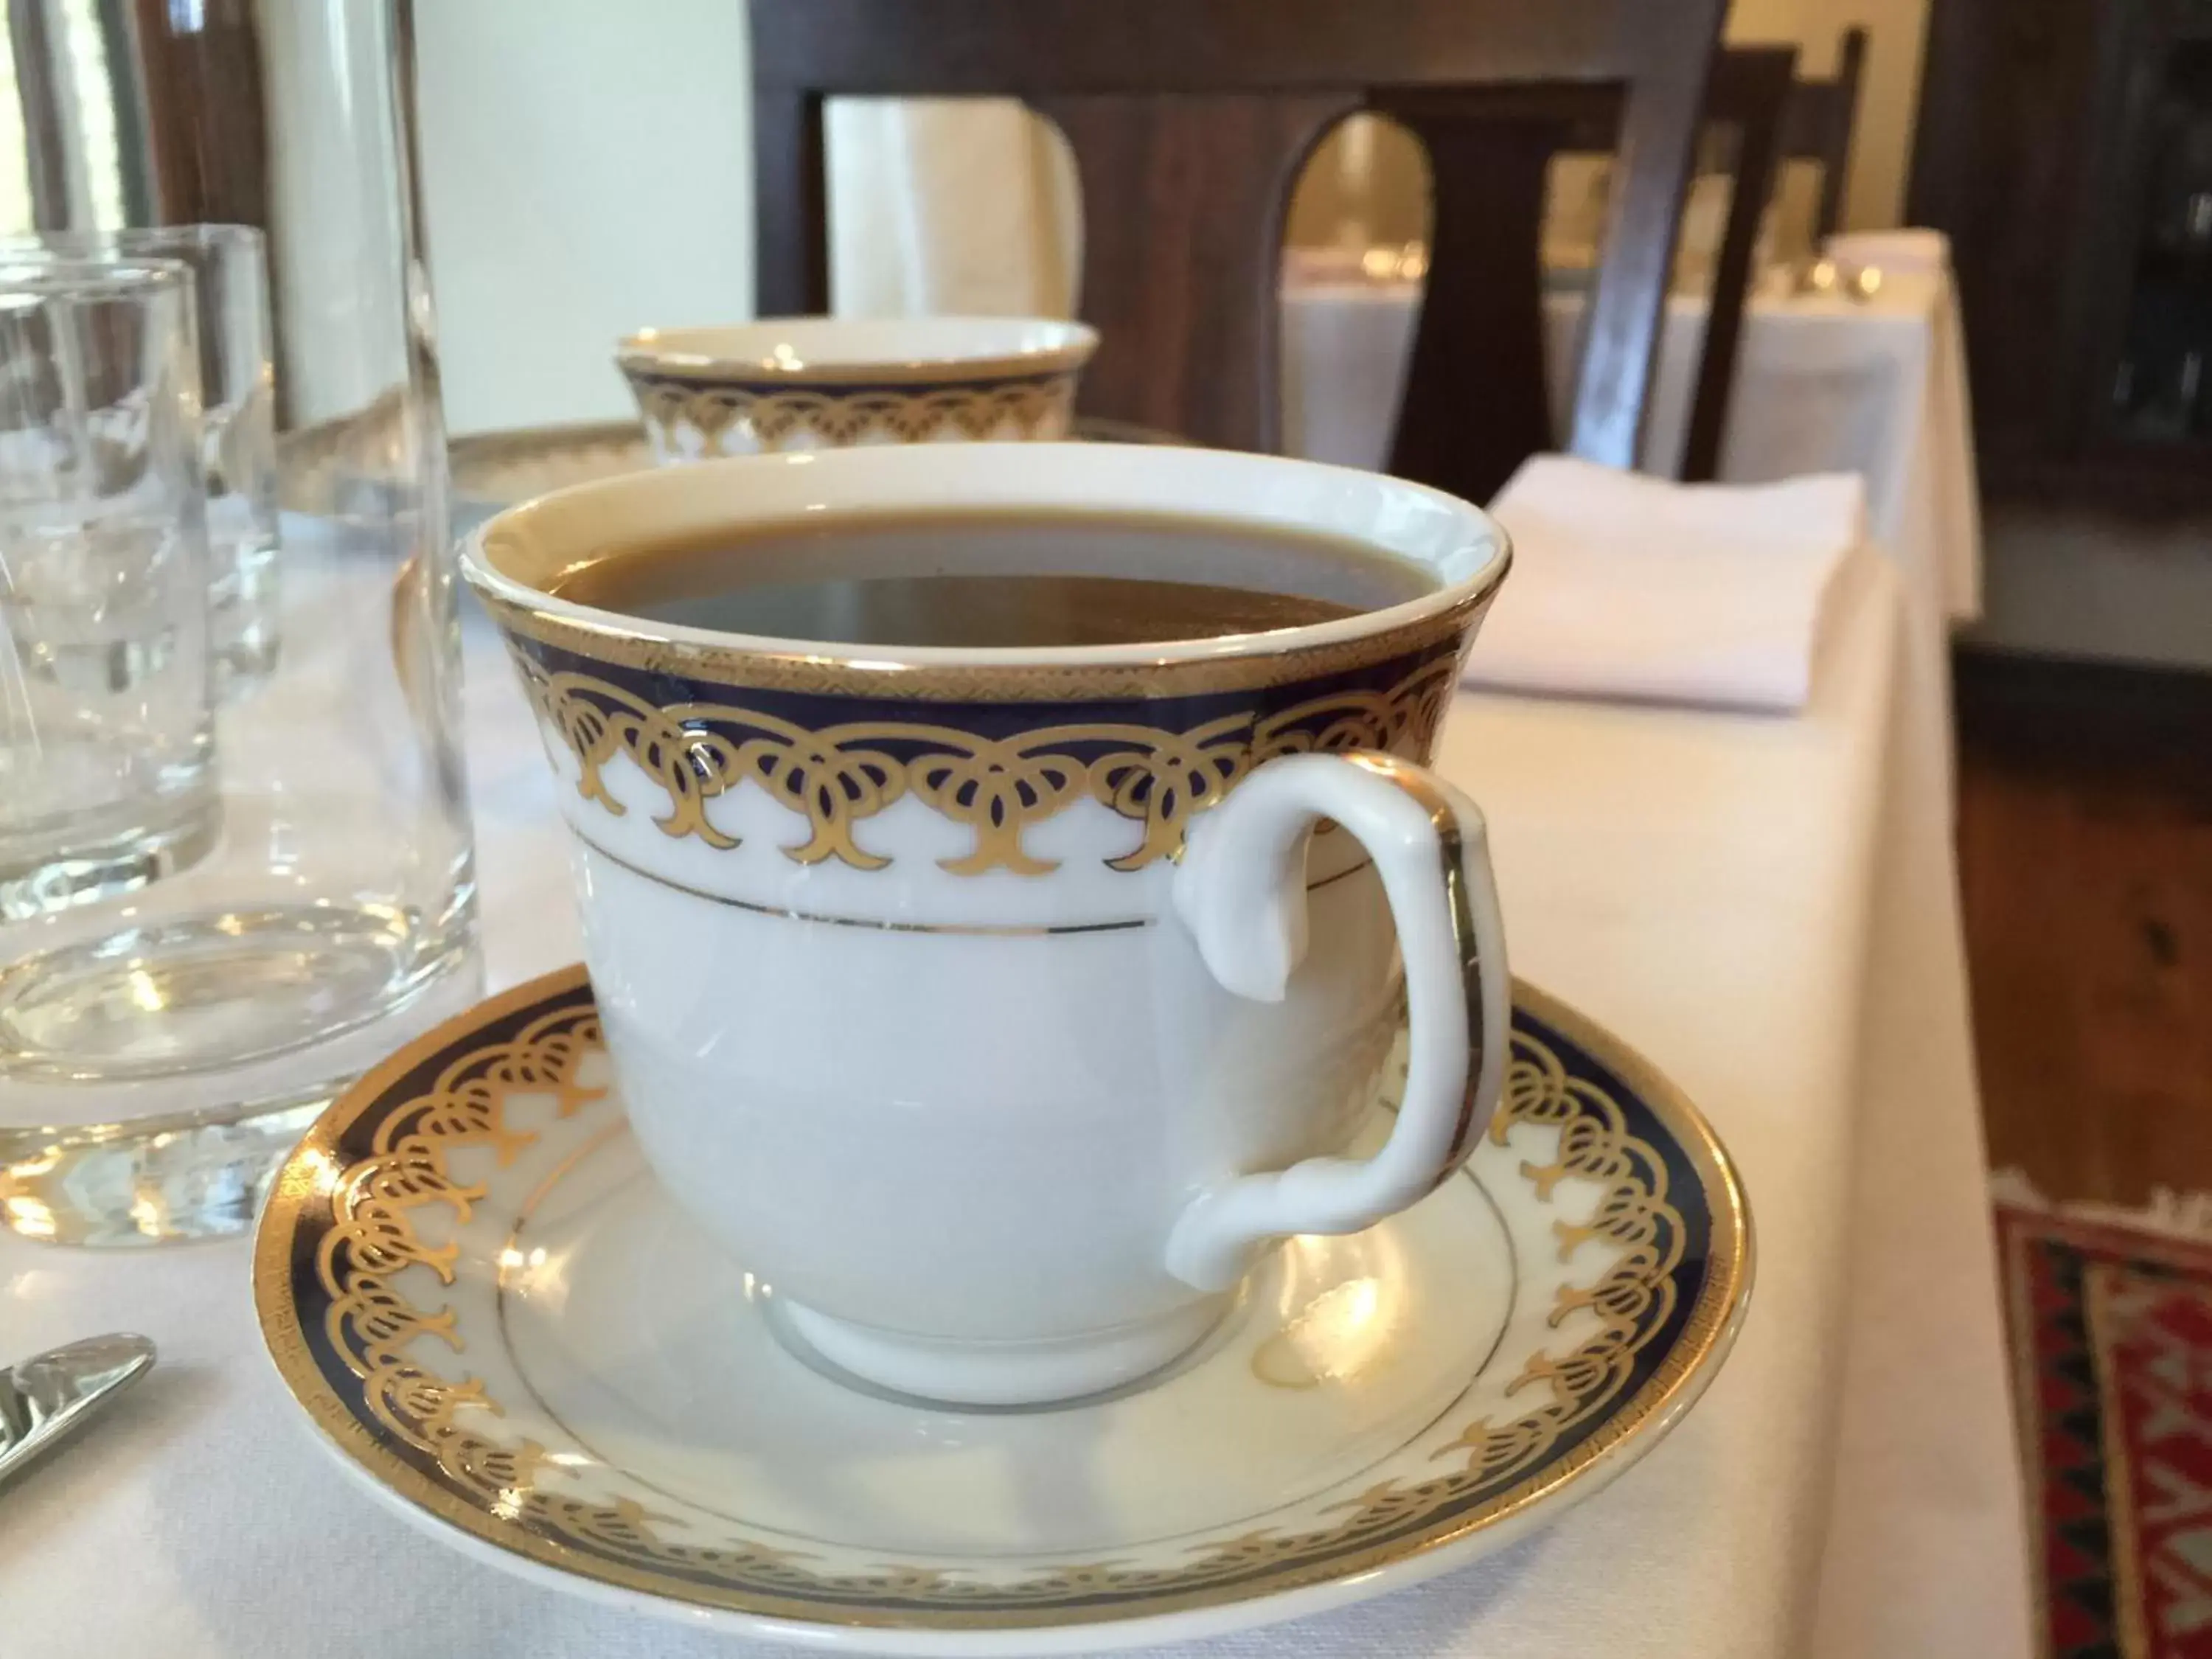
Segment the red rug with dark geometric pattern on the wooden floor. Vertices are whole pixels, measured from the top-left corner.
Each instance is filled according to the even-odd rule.
[[[2212,1245],[1997,1206],[2048,1659],[2212,1659]]]

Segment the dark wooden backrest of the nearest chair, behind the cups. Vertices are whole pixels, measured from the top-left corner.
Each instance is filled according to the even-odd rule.
[[[1283,217],[1314,144],[1354,111],[1449,88],[1613,86],[1621,177],[1568,447],[1632,467],[1723,13],[1725,0],[752,0],[759,305],[830,299],[823,100],[1022,97],[1060,124],[1082,177],[1082,312],[1104,334],[1084,407],[1276,449]],[[1451,175],[1480,168],[1453,157]],[[1522,243],[1535,294],[1533,215],[1486,223],[1480,186],[1440,201],[1440,221],[1444,208],[1453,230],[1431,252],[1429,292],[1451,305],[1427,312],[1460,307],[1453,265],[1484,237]],[[1528,336],[1533,392],[1515,398],[1542,407],[1540,307],[1489,327]],[[1400,427],[1418,414],[1449,451],[1493,396],[1462,372],[1420,409],[1409,396]]]

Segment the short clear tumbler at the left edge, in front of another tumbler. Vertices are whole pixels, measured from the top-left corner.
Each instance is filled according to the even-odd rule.
[[[0,922],[215,841],[190,290],[0,265]]]

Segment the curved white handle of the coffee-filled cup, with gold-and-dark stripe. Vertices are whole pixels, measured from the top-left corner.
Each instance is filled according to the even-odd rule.
[[[1358,1232],[1433,1192],[1489,1128],[1504,1088],[1513,978],[1482,812],[1427,768],[1354,750],[1270,761],[1203,814],[1175,909],[1223,987],[1281,1002],[1305,956],[1305,841],[1334,818],[1383,874],[1405,960],[1405,1102],[1374,1157],[1314,1157],[1208,1188],[1168,1232],[1168,1272],[1228,1290],[1252,1245]]]

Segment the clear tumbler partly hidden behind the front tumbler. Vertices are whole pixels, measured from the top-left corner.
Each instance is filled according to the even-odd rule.
[[[46,230],[0,261],[175,259],[199,303],[201,469],[208,487],[208,619],[215,684],[237,697],[276,668],[276,374],[268,239],[252,226]]]

